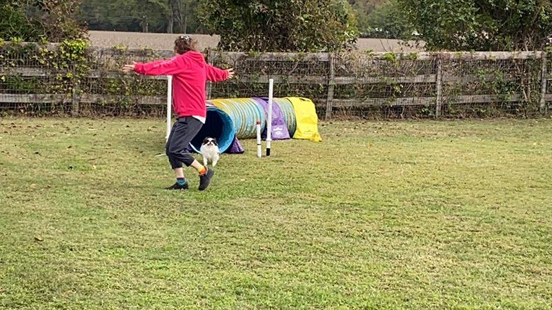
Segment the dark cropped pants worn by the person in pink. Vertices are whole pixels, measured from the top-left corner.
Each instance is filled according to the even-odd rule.
[[[179,117],[168,136],[166,154],[172,169],[189,167],[195,158],[188,152],[188,145],[201,130],[203,123],[192,116]]]

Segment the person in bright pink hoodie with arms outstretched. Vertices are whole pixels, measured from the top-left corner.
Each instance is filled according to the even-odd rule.
[[[148,75],[172,75],[172,110],[178,118],[168,136],[166,154],[177,182],[167,189],[188,189],[183,164],[199,173],[199,190],[206,189],[215,173],[201,165],[188,152],[188,144],[201,130],[207,116],[205,105],[206,81],[224,81],[234,75],[233,69],[222,70],[205,62],[197,52],[196,42],[188,36],[175,40],[175,56],[150,63],[125,65],[124,72],[134,71]]]

